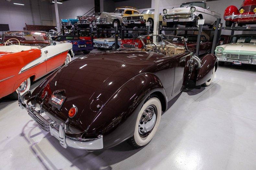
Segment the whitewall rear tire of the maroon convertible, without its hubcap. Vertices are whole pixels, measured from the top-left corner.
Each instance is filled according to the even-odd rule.
[[[142,114],[144,113],[145,109],[148,108],[150,105],[154,105],[157,110],[156,123],[155,123],[153,129],[150,131],[150,133],[147,136],[142,137],[139,133],[138,125],[140,123]],[[150,98],[142,106],[142,108],[140,109],[139,114],[137,116],[136,123],[135,123],[134,136],[131,139],[132,143],[135,147],[141,147],[141,146],[147,145],[152,140],[152,138],[154,137],[154,135],[157,132],[157,128],[158,128],[160,120],[161,120],[161,114],[162,114],[162,106],[161,106],[160,100],[157,97]]]

